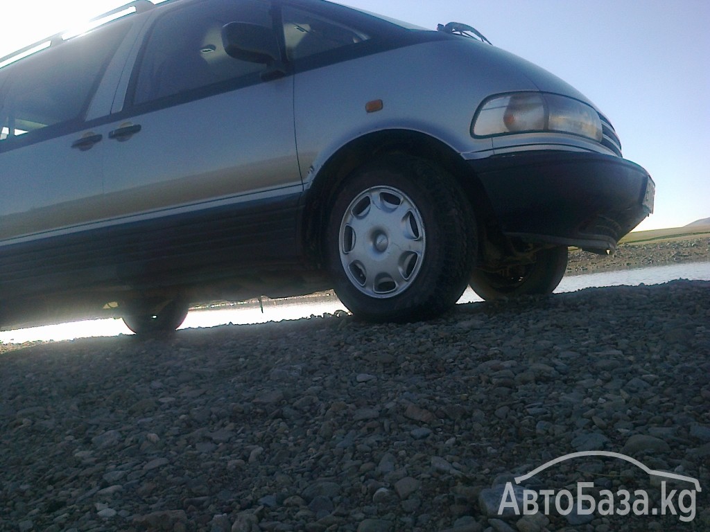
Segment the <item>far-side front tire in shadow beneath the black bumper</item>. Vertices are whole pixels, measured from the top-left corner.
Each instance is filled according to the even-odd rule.
[[[552,294],[567,270],[567,248],[548,248],[535,254],[535,262],[499,272],[474,269],[471,289],[486,301],[502,297]]]

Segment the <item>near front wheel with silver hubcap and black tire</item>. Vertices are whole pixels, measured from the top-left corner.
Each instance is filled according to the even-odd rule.
[[[366,321],[438,316],[466,289],[475,235],[450,174],[417,157],[383,157],[335,196],[325,234],[335,292]]]

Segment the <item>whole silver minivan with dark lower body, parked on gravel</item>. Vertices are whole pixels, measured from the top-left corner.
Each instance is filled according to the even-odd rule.
[[[470,26],[128,4],[0,58],[0,326],[333,288],[370,321],[547,294],[652,211],[588,99]]]

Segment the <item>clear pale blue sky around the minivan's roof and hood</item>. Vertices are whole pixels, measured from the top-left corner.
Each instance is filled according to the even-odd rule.
[[[656,183],[655,213],[638,230],[710,216],[710,0],[339,3],[425,28],[467,23],[579,89],[613,123],[624,157]],[[0,57],[122,4],[0,0]]]

